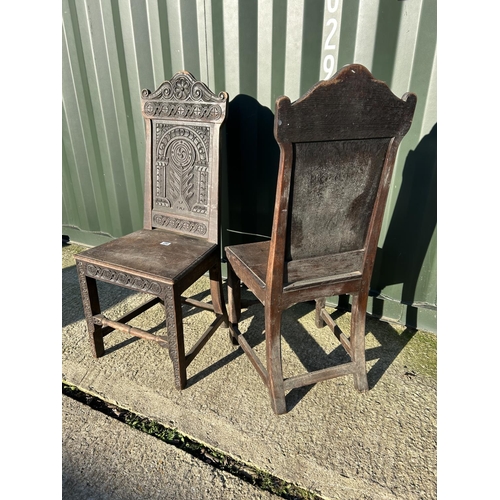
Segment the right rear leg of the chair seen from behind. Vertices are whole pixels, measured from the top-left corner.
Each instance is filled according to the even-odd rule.
[[[368,391],[365,357],[365,322],[368,293],[361,292],[352,297],[351,309],[351,349],[352,361],[355,364],[354,387],[360,391]]]

